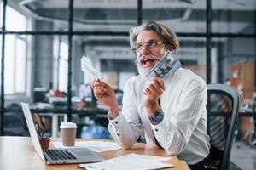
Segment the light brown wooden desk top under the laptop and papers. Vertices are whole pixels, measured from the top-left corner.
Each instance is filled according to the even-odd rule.
[[[85,139],[77,139],[85,140]],[[60,141],[60,139],[53,139],[53,141]],[[123,156],[130,153],[150,155],[150,156],[167,156],[165,150],[160,150],[156,146],[137,143],[131,150],[113,150],[99,153],[103,157],[109,159],[116,156]],[[172,156],[170,161],[176,169],[189,169],[184,161],[178,161],[177,156]],[[59,170],[59,169],[79,169],[78,164],[66,165],[45,165],[40,159],[32,146],[32,140],[29,137],[0,137],[0,169],[1,170]],[[166,168],[167,169],[167,168]]]

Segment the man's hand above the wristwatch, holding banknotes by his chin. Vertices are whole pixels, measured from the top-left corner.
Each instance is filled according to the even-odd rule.
[[[158,100],[160,95],[165,91],[165,82],[163,78],[152,77],[152,82],[144,89],[145,94],[144,105],[148,111],[148,116],[153,116],[154,112],[160,111]]]

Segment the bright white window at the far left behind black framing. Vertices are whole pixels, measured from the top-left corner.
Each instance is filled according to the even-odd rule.
[[[2,4],[1,4],[2,5]],[[2,23],[1,23],[2,24]],[[6,7],[6,31],[26,31],[26,16]],[[2,47],[2,41],[0,45]],[[26,94],[26,37],[5,36],[4,93]]]

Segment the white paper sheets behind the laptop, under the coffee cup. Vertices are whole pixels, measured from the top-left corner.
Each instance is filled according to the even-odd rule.
[[[55,148],[68,148],[62,145],[61,142],[52,142]],[[121,147],[116,142],[105,141],[78,141],[72,148],[87,148],[95,152],[103,152],[110,150],[119,150]],[[70,147],[69,147],[70,148]]]

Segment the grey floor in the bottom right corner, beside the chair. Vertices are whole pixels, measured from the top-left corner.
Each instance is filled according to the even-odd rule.
[[[241,143],[240,148],[237,143],[233,145],[231,151],[231,161],[243,170],[256,169],[256,146],[253,148],[245,143]],[[234,168],[233,168],[234,169]]]

